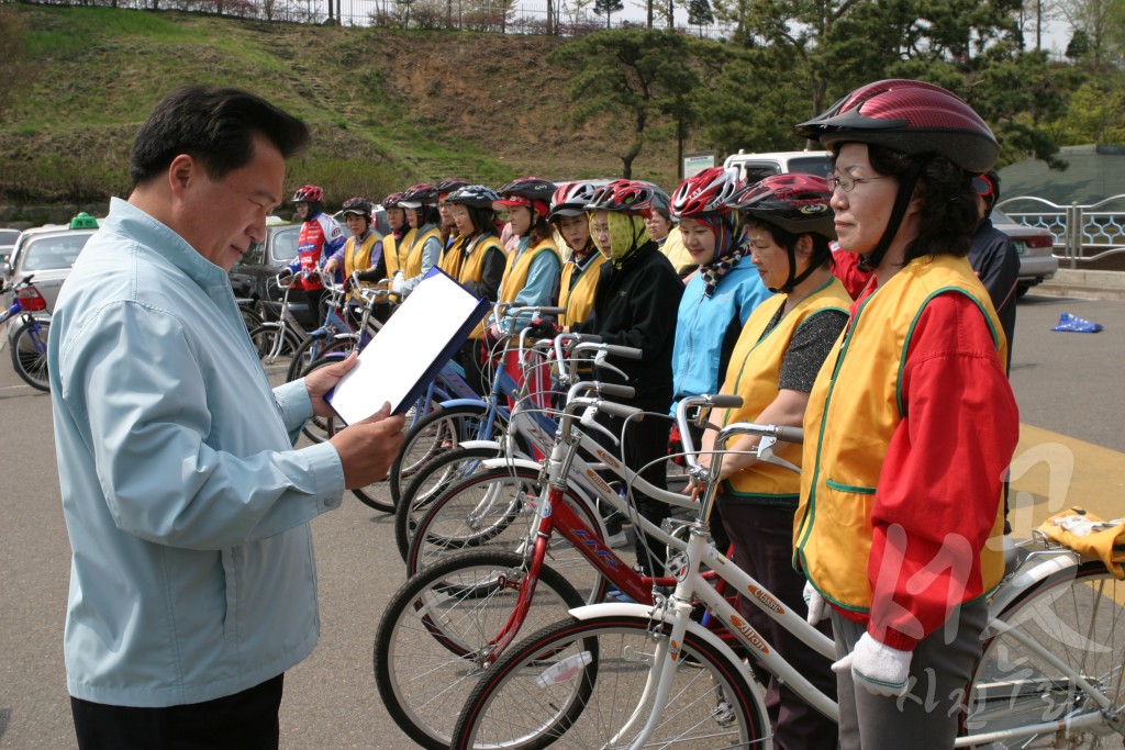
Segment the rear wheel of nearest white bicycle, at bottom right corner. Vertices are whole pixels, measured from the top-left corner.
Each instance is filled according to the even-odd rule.
[[[1020,594],[999,620],[1018,625],[1122,708],[1125,663],[1125,581],[1097,561],[1063,570]],[[1069,678],[1009,633],[991,631],[966,696],[962,735],[1012,729],[1064,716],[1100,713]],[[1105,724],[1052,731],[990,748],[1122,747],[1122,737]],[[1106,743],[1106,744],[1102,744]]]

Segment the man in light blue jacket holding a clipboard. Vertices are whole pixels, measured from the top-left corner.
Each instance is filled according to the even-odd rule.
[[[227,281],[307,139],[253,94],[173,92],[58,297],[48,368],[82,749],[277,748],[282,675],[320,631],[308,522],[385,476],[402,443],[384,409],[294,450],[354,360],[272,389]]]

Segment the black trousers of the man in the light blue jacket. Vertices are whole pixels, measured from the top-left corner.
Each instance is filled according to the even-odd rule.
[[[164,708],[71,697],[80,750],[277,750],[285,675],[204,703]]]

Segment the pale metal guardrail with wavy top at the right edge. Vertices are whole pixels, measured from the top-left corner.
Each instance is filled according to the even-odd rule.
[[[1118,205],[1118,210],[1107,207]],[[1027,210],[1010,206],[1028,205]],[[1038,210],[1033,207],[1040,206]],[[1077,269],[1081,262],[1125,253],[1125,195],[1113,196],[1090,206],[1059,206],[1034,196],[1008,198],[997,204],[1014,220],[1041,227],[1054,235],[1054,255]],[[1062,251],[1060,253],[1060,251]]]

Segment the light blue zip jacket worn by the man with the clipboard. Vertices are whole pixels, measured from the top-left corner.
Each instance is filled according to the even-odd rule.
[[[51,319],[70,534],[71,695],[168,706],[231,695],[320,634],[308,522],[338,507],[328,443],[292,441],[304,382],[273,390],[223,269],[122,200]]]

